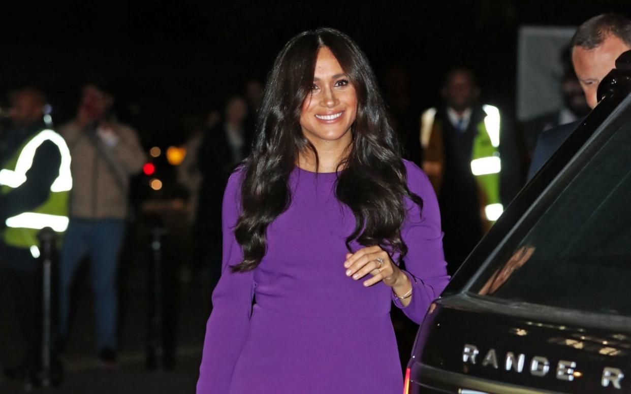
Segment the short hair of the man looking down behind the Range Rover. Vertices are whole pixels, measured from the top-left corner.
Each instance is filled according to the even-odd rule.
[[[631,47],[631,20],[617,13],[594,16],[577,28],[572,47],[594,49],[609,35],[615,35]]]

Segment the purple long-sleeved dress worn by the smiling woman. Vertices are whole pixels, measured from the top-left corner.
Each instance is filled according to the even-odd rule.
[[[239,212],[240,173],[223,200],[223,274],[199,369],[199,394],[400,394],[403,378],[390,320],[394,304],[419,323],[449,277],[442,251],[439,207],[427,175],[405,161],[411,200],[401,235],[408,245],[411,303],[391,287],[345,275],[351,210],[334,196],[336,173],[300,168],[290,175],[292,203],[270,224],[259,266],[232,273],[242,250],[232,228]],[[351,244],[353,252],[362,248]],[[254,300],[254,306],[252,306]]]

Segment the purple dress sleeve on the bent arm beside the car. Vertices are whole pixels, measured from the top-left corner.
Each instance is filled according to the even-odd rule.
[[[423,209],[407,201],[408,217],[403,225],[401,236],[408,245],[404,258],[404,273],[410,277],[412,296],[408,306],[403,306],[392,296],[394,304],[406,316],[421,323],[429,304],[440,296],[447,282],[447,263],[442,250],[440,212],[436,195],[427,175],[413,163],[406,161],[408,187],[423,200]]]

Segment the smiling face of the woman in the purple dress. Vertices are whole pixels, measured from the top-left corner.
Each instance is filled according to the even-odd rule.
[[[322,47],[315,61],[312,91],[302,103],[300,127],[309,141],[319,146],[352,141],[351,125],[357,115],[357,94],[338,59]]]

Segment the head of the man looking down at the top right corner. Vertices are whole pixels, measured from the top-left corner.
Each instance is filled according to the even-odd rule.
[[[631,49],[631,20],[615,13],[594,16],[572,37],[572,64],[589,107],[598,104],[598,84],[615,67],[615,61]]]

